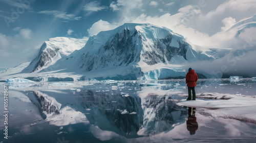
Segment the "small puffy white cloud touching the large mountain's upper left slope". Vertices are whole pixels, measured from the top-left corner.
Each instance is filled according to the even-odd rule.
[[[89,36],[98,34],[100,31],[108,31],[115,29],[117,27],[117,23],[109,23],[108,21],[99,20],[95,22],[90,29],[88,29]]]

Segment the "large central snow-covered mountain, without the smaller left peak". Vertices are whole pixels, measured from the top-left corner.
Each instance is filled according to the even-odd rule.
[[[80,71],[98,79],[164,79],[185,76],[182,63],[211,59],[193,50],[172,30],[148,23],[125,23],[91,36],[82,49],[56,62],[54,70]]]

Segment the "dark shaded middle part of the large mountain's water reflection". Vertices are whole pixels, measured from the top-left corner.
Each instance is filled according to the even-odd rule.
[[[138,137],[137,132],[143,124],[143,110],[138,96],[124,97],[121,93],[102,94],[83,90],[79,102],[90,124],[125,137]]]

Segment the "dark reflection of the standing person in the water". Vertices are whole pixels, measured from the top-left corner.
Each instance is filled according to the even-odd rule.
[[[196,134],[198,129],[197,117],[196,117],[196,108],[188,107],[188,117],[187,117],[187,130],[190,135]]]

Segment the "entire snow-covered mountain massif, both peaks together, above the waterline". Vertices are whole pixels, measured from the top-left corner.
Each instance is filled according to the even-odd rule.
[[[167,28],[125,23],[88,41],[49,39],[18,77],[44,81],[168,79],[185,77],[184,63],[196,60],[213,58],[193,50],[183,36]]]

